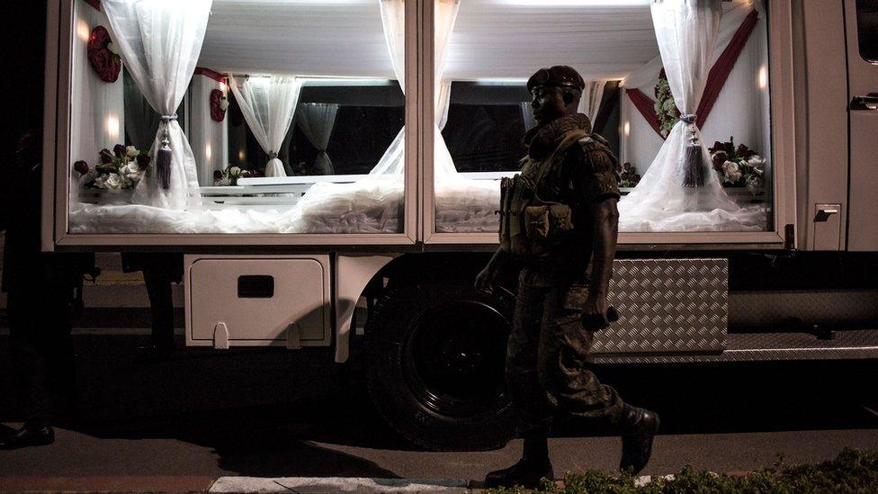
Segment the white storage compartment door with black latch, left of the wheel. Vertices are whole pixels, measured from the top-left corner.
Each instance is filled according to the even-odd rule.
[[[328,256],[187,256],[187,345],[328,345],[328,266]]]

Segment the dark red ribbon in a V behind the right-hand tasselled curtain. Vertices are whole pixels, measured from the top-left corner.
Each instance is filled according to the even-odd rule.
[[[720,97],[722,87],[726,84],[731,69],[735,67],[741,51],[747,45],[747,40],[750,38],[750,34],[753,33],[758,20],[759,14],[756,10],[748,13],[744,21],[741,22],[738,31],[735,31],[735,34],[729,40],[729,45],[722,50],[720,57],[717,58],[716,63],[711,67],[711,71],[707,75],[707,83],[704,85],[701,103],[698,103],[698,109],[695,111],[695,114],[698,115],[695,125],[699,128],[707,121],[707,116],[713,109],[717,98]],[[628,94],[628,97],[634,103],[634,107],[641,112],[641,115],[650,124],[652,130],[655,130],[661,136],[661,125],[658,123],[655,102],[649,96],[643,94],[640,89],[626,89],[625,94]],[[665,139],[664,136],[662,136],[662,139]]]

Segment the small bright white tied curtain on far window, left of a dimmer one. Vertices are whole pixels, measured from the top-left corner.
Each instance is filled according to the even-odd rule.
[[[299,103],[301,80],[293,76],[254,76],[239,81],[231,76],[229,85],[247,126],[268,153],[265,176],[286,176],[277,155]]]

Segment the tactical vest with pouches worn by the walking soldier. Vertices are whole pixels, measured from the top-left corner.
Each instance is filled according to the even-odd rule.
[[[549,156],[524,157],[521,174],[500,181],[500,247],[515,256],[539,256],[569,238],[571,204],[555,189],[567,150],[587,138],[586,130],[570,130]]]

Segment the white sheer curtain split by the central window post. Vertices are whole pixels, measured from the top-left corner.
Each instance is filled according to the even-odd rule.
[[[393,72],[399,80],[399,87],[405,92],[405,0],[380,0],[381,23],[384,26],[384,40],[390,50]],[[448,55],[448,40],[451,39],[460,0],[435,0],[435,174],[445,177],[457,174],[451,154],[445,146],[440,130],[448,120],[448,106],[451,96],[451,81],[443,80],[445,57]],[[397,137],[384,151],[384,156],[369,175],[402,175],[405,170],[406,129],[399,130]]]

